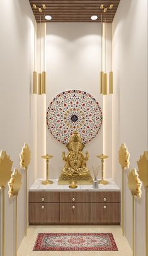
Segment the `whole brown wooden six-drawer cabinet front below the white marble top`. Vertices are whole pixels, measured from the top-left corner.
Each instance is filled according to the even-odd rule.
[[[120,192],[29,192],[30,224],[120,224]]]

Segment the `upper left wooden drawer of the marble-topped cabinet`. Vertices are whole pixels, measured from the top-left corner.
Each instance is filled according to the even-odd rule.
[[[29,202],[59,202],[59,192],[29,192]]]

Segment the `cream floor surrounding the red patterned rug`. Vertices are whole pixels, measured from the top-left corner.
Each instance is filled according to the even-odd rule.
[[[118,252],[33,252],[33,246],[39,232],[48,233],[113,233]],[[21,242],[18,256],[132,256],[132,250],[120,226],[30,226],[28,234]]]

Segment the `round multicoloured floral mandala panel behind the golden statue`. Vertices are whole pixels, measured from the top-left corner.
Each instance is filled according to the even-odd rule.
[[[47,126],[61,143],[67,144],[72,132],[78,131],[88,143],[101,129],[102,112],[95,98],[86,91],[63,91],[50,103]]]

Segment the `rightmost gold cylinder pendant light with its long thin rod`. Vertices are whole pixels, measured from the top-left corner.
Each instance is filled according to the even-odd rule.
[[[113,8],[113,4],[111,4],[110,9]],[[113,71],[112,71],[112,11],[111,11],[111,38],[110,38],[110,76],[109,76],[109,93],[113,94]]]

